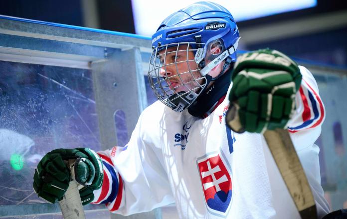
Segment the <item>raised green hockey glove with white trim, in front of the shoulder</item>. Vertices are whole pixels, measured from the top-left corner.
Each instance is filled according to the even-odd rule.
[[[295,109],[301,79],[298,65],[277,50],[260,49],[243,54],[232,72],[226,122],[239,133],[286,128]],[[231,125],[236,117],[238,128]]]

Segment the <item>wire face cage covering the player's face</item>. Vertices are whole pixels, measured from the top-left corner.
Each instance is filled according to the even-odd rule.
[[[194,59],[197,49],[192,49],[203,47],[204,43],[171,43],[152,51],[148,71],[151,87],[157,98],[174,111],[190,106],[207,84],[199,72],[200,60]]]

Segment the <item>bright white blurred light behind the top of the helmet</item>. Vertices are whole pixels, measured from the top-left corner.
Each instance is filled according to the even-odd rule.
[[[317,5],[317,0],[209,0],[227,8],[236,22],[273,14],[294,11]],[[137,34],[152,36],[161,21],[175,11],[196,0],[132,0],[135,30]]]

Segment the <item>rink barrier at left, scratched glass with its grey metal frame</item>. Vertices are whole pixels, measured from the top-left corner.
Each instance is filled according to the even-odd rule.
[[[0,218],[61,218],[32,189],[47,152],[128,142],[147,106],[142,56],[150,45],[148,37],[0,15]],[[114,218],[105,205],[84,210]]]

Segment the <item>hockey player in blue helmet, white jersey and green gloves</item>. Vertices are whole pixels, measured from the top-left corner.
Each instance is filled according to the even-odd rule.
[[[83,204],[104,203],[113,213],[175,203],[187,219],[299,218],[261,135],[284,128],[318,215],[326,215],[314,144],[325,117],[317,84],[305,67],[276,50],[245,53],[236,62],[239,38],[234,18],[216,3],[197,2],[171,14],[152,37],[149,79],[160,101],[142,112],[129,143],[98,155],[84,148],[48,153],[34,175],[37,195],[61,200],[70,180],[63,160],[81,157],[84,169],[76,178]],[[244,133],[226,125],[233,106]]]

